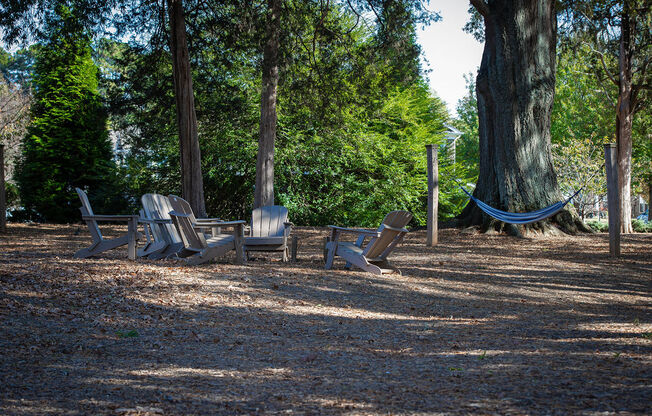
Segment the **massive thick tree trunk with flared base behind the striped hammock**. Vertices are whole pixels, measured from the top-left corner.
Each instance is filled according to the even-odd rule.
[[[504,211],[538,210],[562,199],[550,144],[556,70],[554,1],[471,3],[485,24],[485,47],[476,79],[480,174],[474,196]],[[473,202],[462,211],[458,223],[516,235],[556,231],[552,224],[574,233],[583,225],[568,210],[526,226],[504,224]]]

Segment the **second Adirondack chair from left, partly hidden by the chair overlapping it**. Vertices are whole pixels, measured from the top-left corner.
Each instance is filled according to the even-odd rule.
[[[187,257],[194,252],[185,250],[181,236],[177,231],[170,211],[172,205],[167,196],[160,194],[145,194],[140,198],[143,209],[140,211],[139,222],[145,226],[146,243],[138,250],[141,257],[152,260],[164,258],[173,254]]]

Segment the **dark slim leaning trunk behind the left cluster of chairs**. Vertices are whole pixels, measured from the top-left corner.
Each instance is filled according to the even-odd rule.
[[[181,153],[181,193],[190,203],[195,215],[205,217],[204,180],[201,174],[197,115],[182,0],[168,0],[168,15]]]

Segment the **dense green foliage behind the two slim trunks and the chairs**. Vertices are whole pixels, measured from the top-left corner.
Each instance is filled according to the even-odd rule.
[[[377,28],[356,25],[350,8],[321,14],[318,6],[284,5],[275,199],[297,224],[376,226],[399,208],[423,224],[424,144],[441,141],[448,115],[421,75],[415,26],[392,35],[394,46],[385,49]],[[204,30],[189,28],[189,47],[206,208],[210,216],[246,218],[260,111],[261,47],[252,33],[262,22],[225,9],[223,30],[212,31],[205,29],[218,24],[214,16],[193,13],[205,19]],[[235,42],[231,30],[241,35]],[[130,143],[130,193],[179,192],[168,52],[113,42],[103,51],[106,91],[119,110],[112,127]]]

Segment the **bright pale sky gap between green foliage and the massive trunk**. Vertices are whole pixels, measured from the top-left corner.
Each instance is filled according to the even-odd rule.
[[[425,30],[417,31],[423,55],[428,61],[430,88],[446,102],[455,115],[457,100],[466,94],[464,74],[475,76],[482,59],[483,44],[462,28],[469,20],[468,1],[433,0],[430,10],[439,12],[442,20]]]

